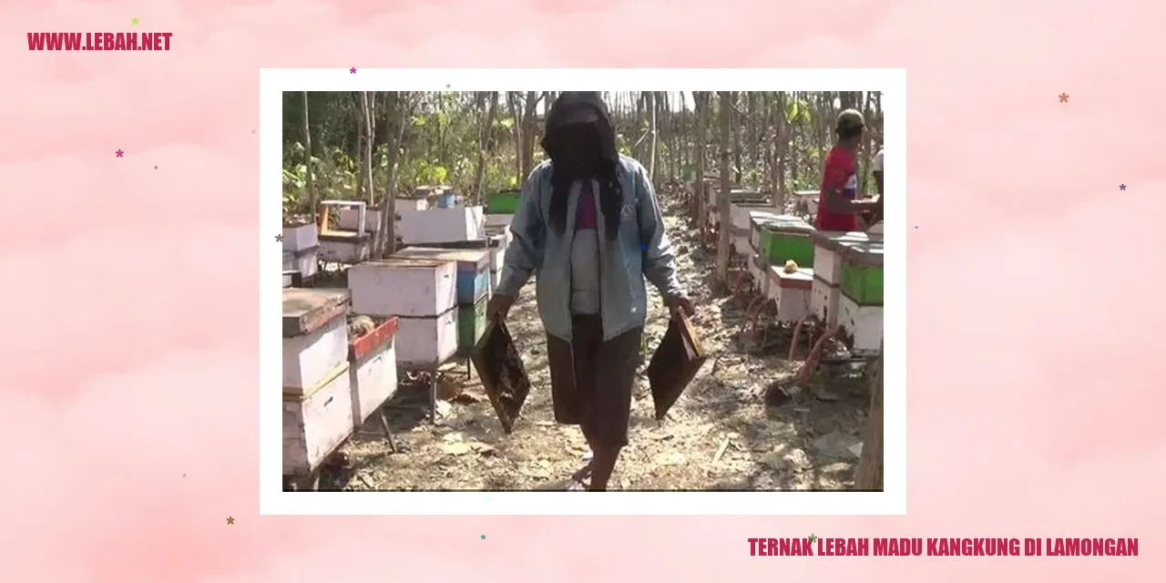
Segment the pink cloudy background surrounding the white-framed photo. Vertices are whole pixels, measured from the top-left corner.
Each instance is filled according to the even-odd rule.
[[[560,3],[0,7],[0,581],[1161,580],[1166,6]],[[259,517],[258,69],[400,65],[906,66],[909,515]],[[1143,556],[749,556],[810,533]]]

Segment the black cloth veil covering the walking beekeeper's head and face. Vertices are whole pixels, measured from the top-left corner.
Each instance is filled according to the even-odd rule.
[[[567,197],[576,180],[599,183],[599,210],[606,234],[619,233],[623,190],[619,187],[619,150],[607,105],[598,91],[564,91],[547,112],[542,149],[552,162],[550,227],[567,230]]]

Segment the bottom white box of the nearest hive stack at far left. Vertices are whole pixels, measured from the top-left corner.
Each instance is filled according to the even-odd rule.
[[[283,394],[283,475],[310,475],[344,443],[352,427],[352,391],[344,360],[318,386]]]

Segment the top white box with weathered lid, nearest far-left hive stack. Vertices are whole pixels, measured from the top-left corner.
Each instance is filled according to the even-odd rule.
[[[343,289],[283,289],[283,393],[303,394],[347,359]]]

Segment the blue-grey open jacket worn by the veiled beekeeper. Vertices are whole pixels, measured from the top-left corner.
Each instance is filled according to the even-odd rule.
[[[619,181],[624,191],[619,237],[609,240],[599,197],[595,196],[602,268],[599,298],[603,337],[611,339],[644,325],[647,295],[644,278],[663,295],[682,295],[673,267],[673,250],[663,232],[663,216],[642,164],[619,156]],[[599,192],[592,184],[592,192]],[[549,229],[550,161],[542,162],[527,177],[514,218],[513,241],[506,248],[505,266],[497,294],[517,296],[538,273],[535,294],[539,316],[547,333],[571,339],[571,240],[575,238],[575,211],[580,183],[570,190],[567,205],[568,229],[562,237]]]

